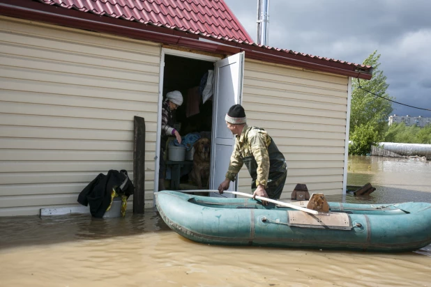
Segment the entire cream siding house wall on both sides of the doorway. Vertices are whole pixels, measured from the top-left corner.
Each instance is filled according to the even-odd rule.
[[[133,178],[133,116],[146,121],[153,206],[160,45],[0,17],[0,216],[77,205],[98,173]],[[245,61],[243,105],[285,154],[288,178],[342,194],[348,78]],[[240,173],[240,191],[250,176]],[[133,198],[129,199],[129,207]]]

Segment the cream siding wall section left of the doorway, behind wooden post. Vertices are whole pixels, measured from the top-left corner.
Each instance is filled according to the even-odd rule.
[[[150,42],[0,17],[0,216],[76,205],[109,169],[133,178],[134,116],[146,121],[152,206],[160,51]]]

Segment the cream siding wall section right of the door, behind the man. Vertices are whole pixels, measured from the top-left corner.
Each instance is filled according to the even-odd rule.
[[[248,124],[267,130],[287,161],[281,199],[289,199],[297,183],[310,195],[342,194],[348,84],[348,77],[246,59]],[[239,191],[250,192],[250,181],[243,168]]]

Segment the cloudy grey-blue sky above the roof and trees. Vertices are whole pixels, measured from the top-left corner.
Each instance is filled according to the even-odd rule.
[[[269,45],[362,63],[375,49],[395,100],[431,109],[431,0],[270,0]],[[256,40],[257,0],[225,0]],[[431,111],[393,103],[393,114]]]

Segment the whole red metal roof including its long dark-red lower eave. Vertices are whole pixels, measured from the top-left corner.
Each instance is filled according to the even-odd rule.
[[[211,6],[198,1],[208,1]],[[181,15],[177,13],[179,10],[182,11],[182,16],[178,16]],[[81,13],[81,11],[86,13]],[[218,11],[219,14],[223,12],[225,18],[223,19],[220,15],[211,15],[214,11]],[[215,54],[246,52],[248,59],[295,65],[361,79],[371,79],[372,77],[373,69],[370,65],[349,63],[251,42],[250,36],[223,0],[0,0],[0,15],[112,33],[167,45],[179,45]],[[107,17],[98,17],[99,15]],[[150,19],[149,16],[155,20]],[[167,26],[162,22],[156,22],[159,18],[165,23],[167,20],[172,22],[169,22],[170,24]],[[184,19],[189,19],[189,21]],[[205,19],[218,19],[218,24],[215,24],[215,21],[211,24],[202,22]],[[204,32],[194,30],[192,32],[191,29],[195,28],[191,28],[190,22],[195,22],[193,24],[195,27],[204,28]],[[218,29],[213,31],[213,27],[218,27]],[[235,27],[238,27],[238,30],[235,30]],[[220,31],[226,33],[230,31],[230,34],[222,36]],[[220,33],[220,35],[215,36],[216,33]],[[234,36],[234,33],[239,34]],[[239,36],[240,34],[241,36]],[[199,36],[211,38],[213,43],[203,42],[199,40]],[[246,40],[240,40],[241,37]]]

